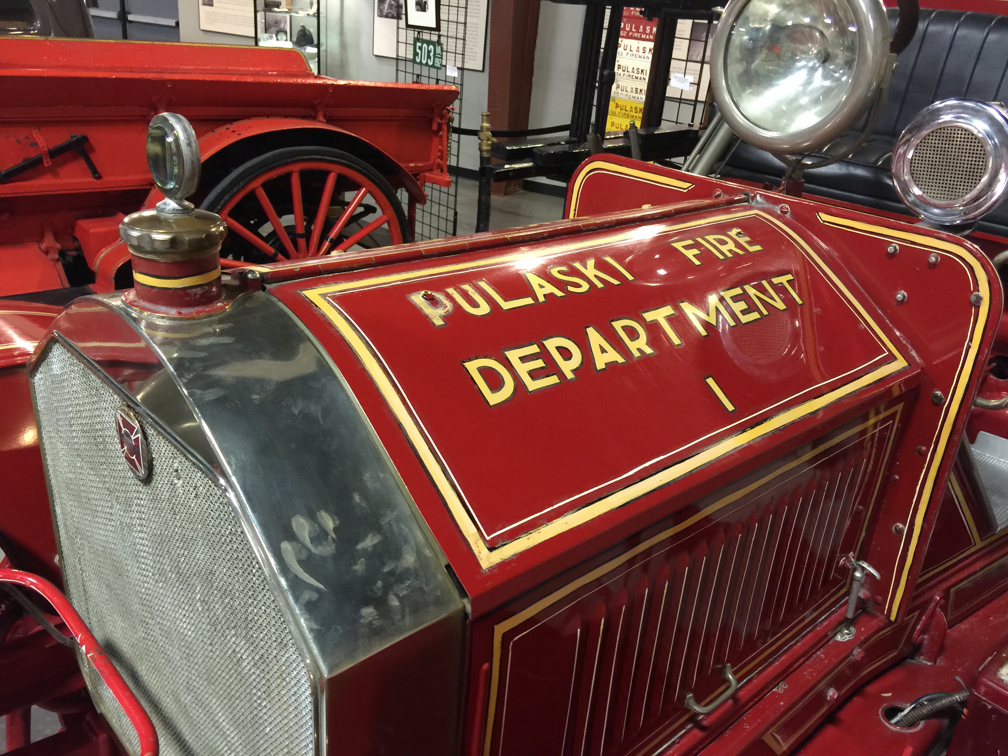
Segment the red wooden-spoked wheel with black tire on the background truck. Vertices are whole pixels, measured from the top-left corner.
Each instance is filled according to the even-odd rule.
[[[348,152],[284,147],[235,168],[203,202],[228,225],[221,257],[251,263],[387,247],[408,241],[387,180]]]

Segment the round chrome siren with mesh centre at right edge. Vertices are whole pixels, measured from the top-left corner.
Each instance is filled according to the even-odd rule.
[[[976,100],[928,105],[896,142],[892,182],[933,223],[971,223],[994,210],[1008,194],[1008,111]]]

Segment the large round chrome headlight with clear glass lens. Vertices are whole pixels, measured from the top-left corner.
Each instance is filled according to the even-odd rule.
[[[714,97],[750,144],[807,152],[865,114],[888,62],[879,0],[732,0],[714,36]]]

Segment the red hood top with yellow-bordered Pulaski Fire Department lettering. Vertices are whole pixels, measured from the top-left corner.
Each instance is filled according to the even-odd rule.
[[[503,575],[694,487],[683,510],[727,460],[918,380],[905,334],[927,327],[904,303],[920,318],[950,285],[941,349],[958,366],[941,385],[961,404],[990,311],[985,263],[941,242],[941,275],[924,254],[897,280],[859,278],[889,242],[851,214],[808,215],[757,200],[270,290],[377,418],[450,555],[461,534]],[[393,418],[408,457],[383,435]]]

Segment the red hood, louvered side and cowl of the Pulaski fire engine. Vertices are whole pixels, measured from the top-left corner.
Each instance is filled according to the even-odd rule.
[[[570,207],[581,217],[614,205],[720,201],[733,192],[725,182],[599,157],[575,175]],[[762,733],[776,733],[783,752],[913,647],[930,599],[914,593],[916,576],[1001,313],[990,263],[957,237],[807,200],[758,193],[751,205],[694,207],[674,218],[662,218],[657,207],[638,210],[654,215],[626,229],[614,221],[570,237],[552,236],[550,227],[534,236],[503,232],[515,242],[505,249],[493,236],[476,237],[411,245],[387,262],[373,255],[264,269],[267,281],[277,281],[270,291],[316,334],[350,384],[471,598],[465,741],[488,756],[578,753],[582,746],[584,753],[643,754],[676,732],[673,752],[691,753],[781,675],[801,675],[797,708],[776,708],[776,719],[761,715]],[[745,215],[753,210],[761,215]],[[685,243],[735,228],[763,249],[719,260],[705,241]],[[887,254],[894,243],[898,254]],[[697,250],[701,265],[687,254]],[[591,283],[589,258],[593,271],[611,280]],[[360,269],[382,262],[379,270]],[[795,290],[804,304],[785,305],[794,318],[786,323],[774,320],[785,311],[774,306],[764,317],[744,288],[778,267],[804,287]],[[550,268],[575,273],[586,290],[575,291],[582,286]],[[683,302],[707,303],[719,292],[731,298],[735,287],[743,287],[748,308],[726,309],[735,326],[708,312],[717,330],[702,319],[709,330],[701,336]],[[645,314],[664,304],[676,312],[667,323],[681,346]],[[755,312],[760,319],[741,322]],[[628,343],[612,323],[629,319],[647,334],[653,354],[641,349],[633,359],[636,327],[624,325]],[[780,330],[759,330],[777,324]],[[747,333],[760,338],[747,340]],[[577,345],[578,370],[570,349],[550,353],[545,340],[555,337]],[[873,344],[888,346],[872,352]],[[512,351],[522,348],[528,351]],[[465,366],[473,359],[500,366],[478,366],[488,371],[483,389]],[[881,372],[857,382],[876,368]],[[736,411],[753,415],[742,423],[750,435],[715,422],[732,412],[708,376]],[[811,394],[828,398],[802,404],[802,392],[820,381]],[[506,400],[491,403],[508,382],[514,389],[502,391]],[[849,389],[830,394],[841,385]],[[768,415],[779,424],[764,433]],[[883,426],[884,442],[873,433],[878,443],[856,444],[858,455],[816,463],[814,450],[831,439]],[[703,465],[676,471],[683,460],[673,453],[648,467],[661,449],[679,446],[680,427],[689,428],[683,437],[690,440],[710,433],[688,457]],[[734,444],[730,459],[717,452],[726,443]],[[788,472],[795,460],[802,460],[800,473],[786,486],[747,489]],[[856,487],[867,498],[828,498],[859,465],[878,471],[874,488]],[[619,474],[623,485],[606,488]],[[584,490],[578,482],[598,487],[594,498],[565,501]],[[804,495],[813,497],[807,511],[815,519],[797,529],[787,518],[805,511]],[[833,509],[837,501],[842,507]],[[553,509],[543,514],[546,507]],[[793,545],[781,545],[785,532],[796,533]],[[928,574],[930,585],[947,581],[940,590],[950,592],[950,624],[1004,585],[997,564],[986,579],[963,572],[993,558],[993,546],[970,538],[927,564],[940,568]],[[836,560],[847,552],[881,573],[866,585],[879,614],[863,618],[857,658],[851,644],[824,650],[820,668],[808,654],[839,622],[831,613],[841,606],[846,573]],[[724,566],[738,554],[751,555],[749,572],[737,560]],[[762,589],[776,590],[780,575],[797,573],[790,564],[811,568],[795,578],[796,591],[783,590],[794,603],[778,606]],[[960,571],[955,584],[948,582],[953,568]],[[692,605],[672,615],[663,602],[676,596]],[[749,609],[739,614],[745,601]],[[657,661],[663,657],[667,675]],[[699,700],[713,699],[724,660],[742,670],[737,701],[745,703],[719,711],[707,728],[691,727],[682,698],[695,689]],[[838,689],[829,706],[802,698],[826,681]]]

